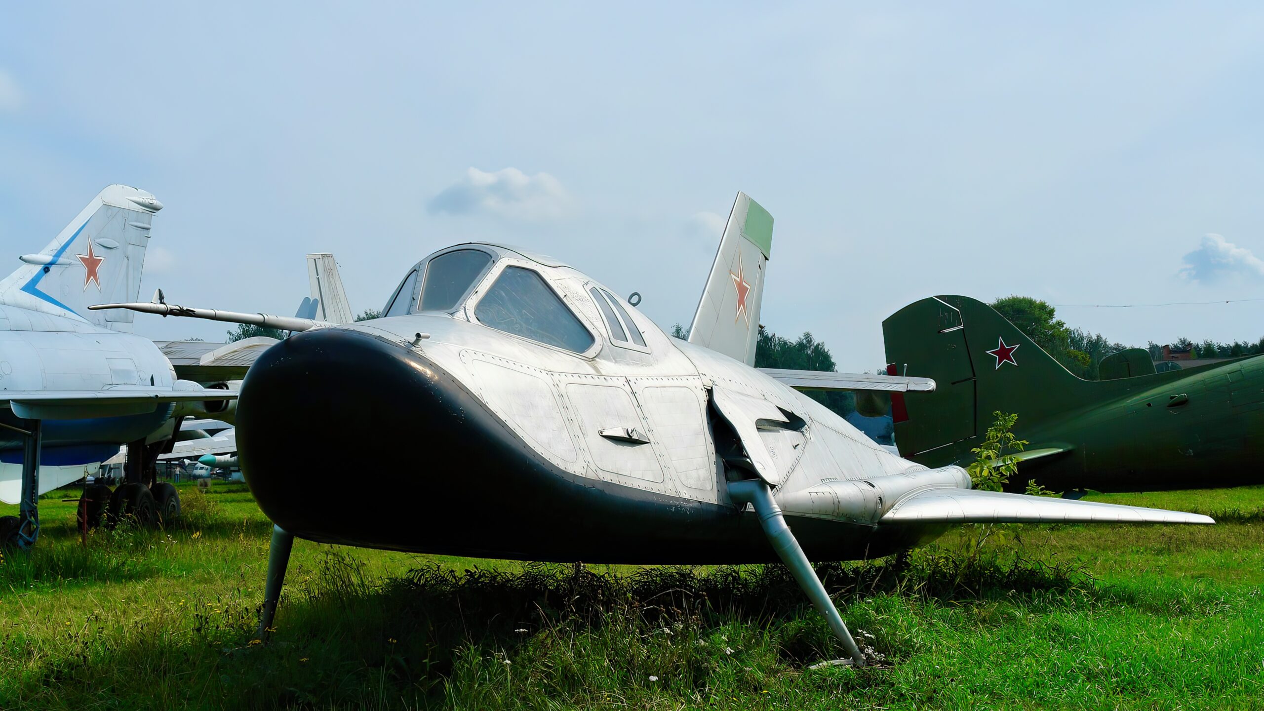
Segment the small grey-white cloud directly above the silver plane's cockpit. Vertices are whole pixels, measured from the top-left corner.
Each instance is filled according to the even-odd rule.
[[[451,215],[484,214],[509,220],[555,220],[569,215],[574,200],[549,173],[528,176],[518,168],[485,172],[469,168],[465,176],[434,196],[426,207]]]

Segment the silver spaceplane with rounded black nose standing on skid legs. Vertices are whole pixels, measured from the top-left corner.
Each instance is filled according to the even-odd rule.
[[[973,491],[959,467],[884,450],[787,383],[933,383],[756,369],[771,244],[772,216],[738,194],[688,340],[551,257],[483,243],[426,257],[380,319],[356,324],[115,306],[302,331],[254,362],[238,407],[243,473],[276,524],[263,631],[295,536],[554,562],[780,559],[863,664],[809,558],[887,555],[971,521],[1212,522]],[[293,443],[331,426],[374,467],[374,488],[410,493],[368,515],[345,472],[296,468]]]

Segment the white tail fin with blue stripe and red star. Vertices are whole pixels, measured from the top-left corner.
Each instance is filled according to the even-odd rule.
[[[162,202],[144,190],[106,187],[48,247],[19,257],[23,264],[0,281],[0,304],[130,333],[134,311],[87,307],[137,301],[158,210]]]

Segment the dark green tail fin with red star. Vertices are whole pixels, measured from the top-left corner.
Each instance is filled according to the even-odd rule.
[[[995,309],[968,296],[933,296],[882,321],[887,371],[929,377],[934,392],[901,396],[892,406],[895,442],[904,457],[971,447],[994,412],[1019,415],[1021,431],[1096,397],[1082,381]],[[959,458],[949,457],[949,461]],[[938,461],[938,459],[937,459]]]

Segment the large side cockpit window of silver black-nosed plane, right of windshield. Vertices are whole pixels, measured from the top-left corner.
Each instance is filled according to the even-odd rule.
[[[593,334],[544,277],[523,267],[506,267],[479,300],[474,316],[493,329],[575,353],[593,345]]]

